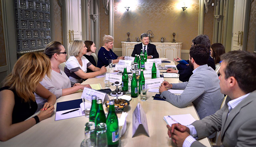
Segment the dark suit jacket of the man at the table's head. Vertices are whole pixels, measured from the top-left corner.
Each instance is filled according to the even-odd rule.
[[[142,48],[142,43],[134,45],[134,49],[132,51],[131,56],[135,57],[135,54],[140,55]],[[153,58],[159,58],[159,54],[157,53],[156,46],[154,44],[148,43],[147,45],[147,56],[153,56]]]

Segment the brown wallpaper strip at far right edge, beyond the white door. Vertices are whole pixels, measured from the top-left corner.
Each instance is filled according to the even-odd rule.
[[[251,3],[248,42],[247,42],[247,51],[251,53],[254,51],[254,43],[256,40],[255,32],[256,32],[256,1],[254,0]]]

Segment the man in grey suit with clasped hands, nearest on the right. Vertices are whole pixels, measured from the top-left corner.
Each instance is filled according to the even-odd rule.
[[[231,51],[221,60],[221,92],[228,95],[224,107],[187,127],[167,125],[168,135],[177,146],[202,147],[196,139],[215,131],[221,131],[221,146],[256,146],[256,55]]]

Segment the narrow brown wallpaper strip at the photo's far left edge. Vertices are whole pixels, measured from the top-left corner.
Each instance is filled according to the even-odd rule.
[[[2,4],[0,1],[0,67],[6,65],[5,45],[3,34]]]

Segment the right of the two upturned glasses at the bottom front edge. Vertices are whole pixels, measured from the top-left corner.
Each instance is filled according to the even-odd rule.
[[[96,147],[108,147],[106,123],[101,122],[96,126]]]

